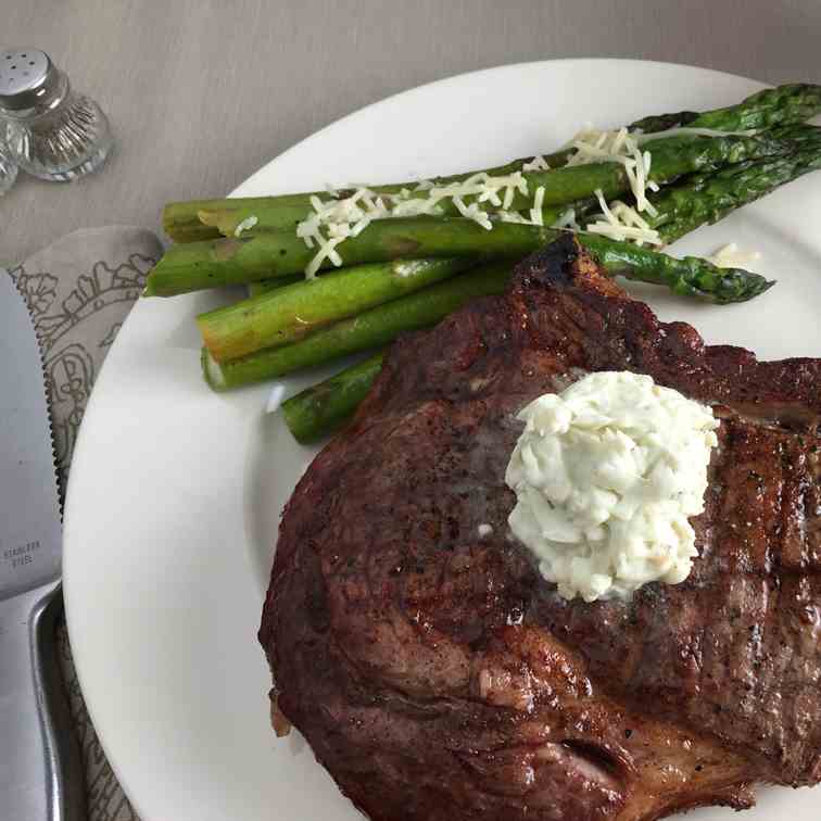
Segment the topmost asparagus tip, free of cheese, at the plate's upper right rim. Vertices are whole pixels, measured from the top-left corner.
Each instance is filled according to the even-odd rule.
[[[713,128],[717,131],[744,131],[747,129],[772,128],[776,125],[804,123],[821,113],[821,86],[793,83],[778,88],[766,88],[750,94],[736,105],[715,109],[700,114],[681,111],[677,114],[661,114],[636,119],[631,130],[641,129],[645,134],[668,128]]]

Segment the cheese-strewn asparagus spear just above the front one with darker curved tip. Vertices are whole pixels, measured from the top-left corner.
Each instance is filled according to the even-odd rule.
[[[645,146],[645,149],[653,155],[651,178],[659,184],[694,170],[716,168],[727,163],[737,163],[751,157],[784,153],[788,148],[785,139],[770,134],[753,137],[732,135],[713,138],[682,136],[652,140]],[[542,203],[545,207],[565,205],[573,200],[581,200],[592,195],[596,189],[601,189],[608,198],[629,189],[627,172],[620,163],[593,163],[550,170],[534,170],[525,173],[523,177],[528,184],[528,193],[517,191],[508,206],[509,210],[530,209],[533,203],[533,193],[539,188],[544,189]],[[399,192],[396,186],[381,186],[374,190],[383,193]],[[346,197],[351,193],[353,192],[343,191],[340,192],[340,195]],[[295,225],[311,213],[311,200],[314,197],[327,199],[327,194],[317,191],[304,194],[287,194],[286,197],[271,197],[267,203],[254,200],[249,206],[237,207],[231,204],[228,211],[212,211],[207,214],[201,212],[200,216],[204,222],[215,225],[220,233],[227,237],[233,237],[238,232],[238,228],[249,217],[254,218],[254,227],[248,232],[240,231],[240,236],[245,233],[253,236],[270,229],[293,230]],[[410,200],[425,200],[428,198],[428,191],[410,191],[407,197]],[[470,205],[477,201],[477,198],[467,195],[463,200],[465,205]],[[458,216],[459,213],[459,209],[451,198],[440,200],[434,212],[437,216]],[[546,222],[554,222],[555,216],[553,215]]]

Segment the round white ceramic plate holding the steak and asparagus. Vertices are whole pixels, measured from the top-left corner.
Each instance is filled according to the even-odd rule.
[[[531,63],[435,83],[314,135],[236,194],[452,173],[550,151],[581,125],[735,102],[760,85],[661,63]],[[821,179],[804,179],[674,251],[736,241],[779,279],[747,305],[641,290],[665,319],[763,358],[820,355]],[[216,299],[224,299],[217,296]],[[279,511],[314,450],[295,445],[266,388],[200,379],[192,317],[213,294],[131,313],[94,388],[65,522],[72,645],[103,746],[143,821],[340,821],[357,813],[298,734],[268,724],[256,644]],[[305,379],[293,380],[294,386]],[[821,791],[762,791],[754,819],[817,819]],[[729,819],[730,810],[689,816]]]

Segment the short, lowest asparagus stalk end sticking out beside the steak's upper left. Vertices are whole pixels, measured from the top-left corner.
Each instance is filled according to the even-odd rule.
[[[283,402],[282,415],[294,439],[310,444],[342,427],[379,376],[383,357],[380,351]]]

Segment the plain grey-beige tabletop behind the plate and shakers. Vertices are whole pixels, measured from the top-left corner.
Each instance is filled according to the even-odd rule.
[[[388,94],[503,63],[626,56],[821,83],[818,0],[5,0],[7,46],[48,51],[117,138],[99,175],[21,178],[0,263],[80,227],[159,230]]]

